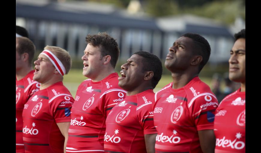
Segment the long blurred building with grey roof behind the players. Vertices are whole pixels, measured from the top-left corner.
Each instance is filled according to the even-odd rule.
[[[229,29],[211,19],[191,15],[152,18],[93,2],[16,0],[16,25],[28,30],[37,49],[59,46],[72,57],[83,55],[88,33],[104,31],[117,39],[120,58],[124,60],[139,50],[164,59],[168,48],[186,32],[198,33],[208,40],[211,63],[227,62],[233,45]]]

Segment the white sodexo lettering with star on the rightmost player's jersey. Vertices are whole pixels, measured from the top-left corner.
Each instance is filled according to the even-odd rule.
[[[216,146],[223,147],[223,148],[231,147],[232,149],[237,149],[237,150],[243,149],[245,143],[243,141],[237,141],[237,139],[239,140],[241,136],[242,134],[238,132],[235,135],[236,137],[235,140],[226,139],[225,136],[222,139],[216,138]]]

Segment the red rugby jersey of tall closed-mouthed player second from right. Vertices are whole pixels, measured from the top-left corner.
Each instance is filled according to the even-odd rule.
[[[197,131],[213,129],[217,98],[199,77],[179,89],[172,84],[155,94],[155,151],[202,152]]]

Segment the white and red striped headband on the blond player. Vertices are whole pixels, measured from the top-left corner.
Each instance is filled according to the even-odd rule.
[[[62,75],[64,76],[64,74],[66,73],[65,67],[63,66],[63,64],[61,63],[61,61],[49,50],[45,49],[44,51],[42,51],[40,54],[44,54],[46,57],[49,58],[49,60],[52,62],[52,64],[54,65],[54,67],[56,68],[56,70]]]

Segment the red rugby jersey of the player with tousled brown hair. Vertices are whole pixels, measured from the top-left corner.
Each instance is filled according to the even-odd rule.
[[[106,117],[125,98],[118,85],[118,74],[112,73],[98,82],[83,81],[76,92],[66,152],[104,152]]]

